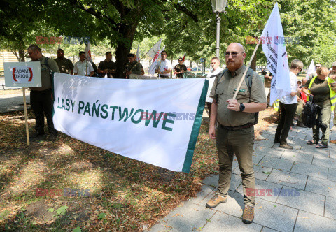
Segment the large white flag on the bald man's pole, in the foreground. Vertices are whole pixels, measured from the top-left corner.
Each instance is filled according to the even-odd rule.
[[[262,51],[267,59],[267,68],[272,73],[271,105],[276,99],[290,93],[290,78],[286,41],[283,36],[278,3],[275,3],[271,15],[261,35]]]

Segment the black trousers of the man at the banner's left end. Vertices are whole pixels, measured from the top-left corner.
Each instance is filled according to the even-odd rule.
[[[38,133],[44,133],[44,115],[47,118],[49,133],[57,134],[52,122],[53,101],[51,99],[52,89],[43,91],[31,90],[30,105],[34,110],[36,125],[35,129]]]

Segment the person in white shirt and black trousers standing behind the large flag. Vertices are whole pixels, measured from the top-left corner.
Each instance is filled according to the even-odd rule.
[[[288,145],[287,137],[290,126],[293,124],[293,119],[297,107],[297,73],[300,73],[303,69],[302,61],[294,59],[290,64],[290,94],[283,96],[280,99],[279,109],[280,109],[280,122],[276,128],[274,143],[280,143],[281,148],[293,149],[292,146]]]

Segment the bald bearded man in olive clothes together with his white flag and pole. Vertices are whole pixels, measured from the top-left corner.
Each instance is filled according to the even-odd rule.
[[[206,206],[215,208],[218,204],[228,201],[232,160],[235,154],[244,190],[245,208],[241,219],[245,224],[252,223],[254,219],[256,190],[252,161],[253,125],[258,123],[257,113],[265,110],[267,105],[265,89],[258,73],[248,68],[260,43],[267,57],[267,68],[273,76],[271,103],[290,93],[287,52],[286,47],[281,44],[284,37],[277,3],[262,36],[267,38],[267,41],[259,41],[248,66],[244,66],[246,53],[243,45],[231,43],[228,46],[225,53],[228,68],[216,78],[210,94],[214,101],[211,104],[209,136],[217,140],[219,180],[218,191]]]

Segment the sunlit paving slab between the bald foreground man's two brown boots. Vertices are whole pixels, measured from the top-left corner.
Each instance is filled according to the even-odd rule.
[[[207,196],[200,203],[201,205],[205,205],[213,195]],[[229,215],[233,215],[235,217],[241,217],[244,210],[244,200],[243,195],[239,194],[237,191],[229,191],[228,192],[228,202],[219,204],[214,210],[219,212],[225,212]]]

